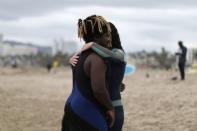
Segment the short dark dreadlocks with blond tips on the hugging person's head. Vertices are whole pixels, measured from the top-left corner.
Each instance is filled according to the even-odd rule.
[[[78,37],[85,42],[91,42],[94,37],[99,38],[105,33],[111,33],[111,28],[102,16],[92,15],[78,21]],[[111,47],[111,44],[109,47]]]

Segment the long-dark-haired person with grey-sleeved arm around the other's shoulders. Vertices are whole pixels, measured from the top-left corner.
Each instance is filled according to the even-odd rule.
[[[109,49],[100,46],[97,43],[89,42],[83,46],[80,52],[84,50],[92,49],[98,55],[103,57],[108,63],[108,91],[110,98],[112,100],[112,105],[115,109],[115,123],[110,131],[121,131],[124,122],[124,111],[121,102],[120,91],[124,90],[124,84],[122,84],[122,79],[124,75],[126,62],[124,60],[124,51],[121,46],[119,33],[116,27],[110,23],[111,27],[111,37],[112,37],[112,47]],[[75,66],[79,56],[75,54],[70,58],[70,64]]]

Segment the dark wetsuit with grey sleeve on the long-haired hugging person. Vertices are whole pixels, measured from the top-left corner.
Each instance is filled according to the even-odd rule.
[[[120,85],[126,66],[125,54],[121,49],[114,48],[109,50],[96,43],[93,43],[92,49],[108,63],[108,91],[115,109],[115,123],[109,131],[121,131],[124,123],[124,110],[121,101]]]

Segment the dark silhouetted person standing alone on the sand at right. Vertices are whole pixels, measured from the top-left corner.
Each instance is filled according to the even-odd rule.
[[[180,47],[180,52],[176,53],[176,55],[179,56],[178,66],[181,75],[181,80],[185,80],[185,63],[186,63],[187,48],[183,45],[182,41],[179,41],[178,45]]]

